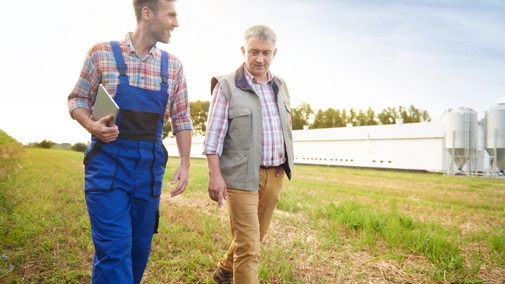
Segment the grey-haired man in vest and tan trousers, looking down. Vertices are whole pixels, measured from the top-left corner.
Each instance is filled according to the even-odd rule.
[[[232,243],[214,273],[218,283],[258,283],[258,254],[293,168],[291,107],[286,83],[268,68],[276,36],[257,25],[244,34],[245,64],[212,78],[204,154],[209,196],[228,202]]]

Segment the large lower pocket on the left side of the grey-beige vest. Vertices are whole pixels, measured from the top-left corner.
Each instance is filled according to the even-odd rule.
[[[219,167],[221,168],[221,175],[225,182],[246,182],[248,153],[249,149],[223,149],[223,154],[219,159]]]

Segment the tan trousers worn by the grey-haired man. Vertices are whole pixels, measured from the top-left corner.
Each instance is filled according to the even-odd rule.
[[[258,255],[275,206],[279,202],[284,175],[276,177],[277,168],[260,168],[258,191],[228,189],[228,212],[232,242],[219,260],[219,268],[233,273],[235,284],[256,284]]]

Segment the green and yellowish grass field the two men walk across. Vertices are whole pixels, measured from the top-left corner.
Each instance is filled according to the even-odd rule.
[[[90,283],[83,154],[27,149],[0,180],[0,282]],[[169,159],[143,283],[212,283],[228,213],[191,161],[170,198]],[[8,205],[6,205],[8,204]],[[504,283],[505,181],[295,166],[260,256],[262,283]]]

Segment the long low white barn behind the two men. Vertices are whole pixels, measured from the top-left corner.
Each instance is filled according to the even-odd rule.
[[[444,137],[441,122],[295,130],[294,162],[440,172],[447,162]],[[203,142],[193,137],[192,158],[205,158]],[[178,156],[175,138],[164,144],[170,156]]]

